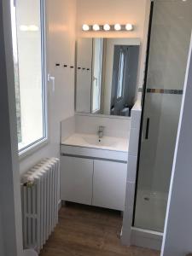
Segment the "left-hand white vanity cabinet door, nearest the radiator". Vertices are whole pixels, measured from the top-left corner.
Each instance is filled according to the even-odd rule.
[[[61,200],[91,205],[93,160],[61,156]]]

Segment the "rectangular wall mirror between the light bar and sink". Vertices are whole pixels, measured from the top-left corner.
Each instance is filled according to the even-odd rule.
[[[78,113],[130,116],[137,96],[138,38],[79,38]]]

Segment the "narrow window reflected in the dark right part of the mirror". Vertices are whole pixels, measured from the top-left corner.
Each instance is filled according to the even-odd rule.
[[[117,99],[121,98],[124,92],[124,68],[125,68],[125,52],[123,51],[123,49],[120,49]]]

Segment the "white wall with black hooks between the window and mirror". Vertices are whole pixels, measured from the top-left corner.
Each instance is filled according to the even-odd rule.
[[[47,4],[48,72],[55,76],[55,92],[48,84],[49,143],[20,160],[20,173],[41,158],[60,155],[60,122],[74,114],[74,49],[76,0],[52,0]],[[61,63],[55,67],[55,63]],[[67,64],[67,68],[62,67]]]

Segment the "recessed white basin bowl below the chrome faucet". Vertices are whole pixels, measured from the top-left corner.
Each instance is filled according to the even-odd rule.
[[[113,137],[102,137],[99,138],[98,136],[84,136],[83,137],[85,143],[94,146],[102,146],[102,147],[115,147],[118,144],[118,139]]]

